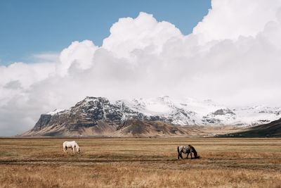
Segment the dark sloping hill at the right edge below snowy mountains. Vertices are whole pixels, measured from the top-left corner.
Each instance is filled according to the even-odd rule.
[[[281,137],[281,118],[271,123],[257,125],[242,132],[226,134],[230,137]]]

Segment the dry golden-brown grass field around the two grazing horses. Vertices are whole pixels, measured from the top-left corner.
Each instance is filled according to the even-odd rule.
[[[63,153],[76,140],[81,153]],[[177,159],[192,144],[200,159]],[[2,138],[0,187],[281,187],[281,139]]]

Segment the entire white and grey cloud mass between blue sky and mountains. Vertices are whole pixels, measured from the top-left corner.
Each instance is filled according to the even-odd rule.
[[[102,46],[72,42],[39,63],[0,67],[0,132],[34,126],[41,113],[85,96],[195,97],[280,105],[281,1],[213,0],[192,34],[153,15],[120,18]],[[188,19],[188,18],[187,18]]]

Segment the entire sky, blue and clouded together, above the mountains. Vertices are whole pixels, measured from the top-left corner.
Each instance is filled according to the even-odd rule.
[[[280,106],[281,0],[82,3],[0,2],[0,136],[86,96]]]

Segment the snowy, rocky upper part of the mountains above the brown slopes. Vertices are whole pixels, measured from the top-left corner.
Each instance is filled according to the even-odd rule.
[[[129,119],[160,120],[174,125],[259,125],[280,118],[281,108],[266,106],[230,108],[211,100],[198,101],[190,98],[178,100],[169,96],[119,101],[88,96],[69,110],[55,110],[46,114],[51,115],[50,117],[67,115],[93,123],[104,120],[110,125]]]

